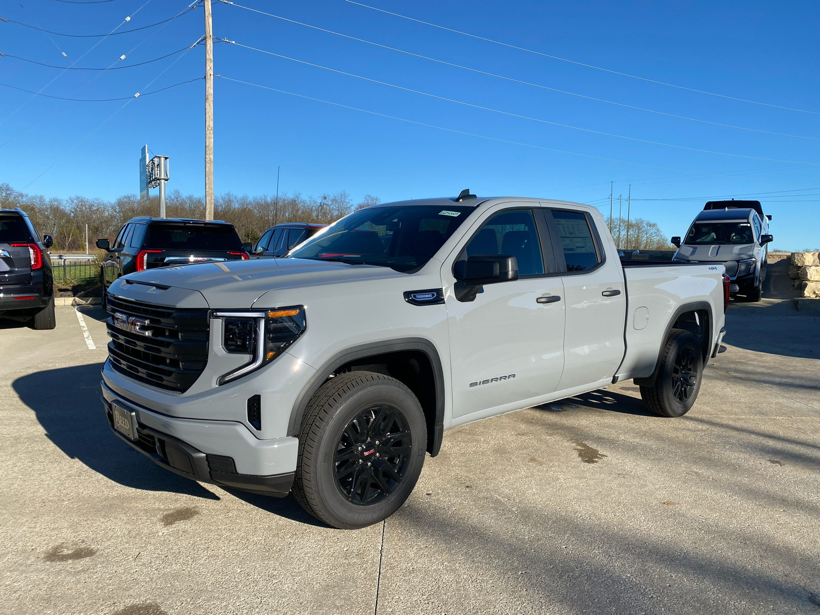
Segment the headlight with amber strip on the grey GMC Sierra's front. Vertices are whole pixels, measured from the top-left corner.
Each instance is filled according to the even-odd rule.
[[[249,354],[250,361],[216,379],[216,385],[248,375],[285,352],[307,328],[301,305],[248,312],[212,312],[222,319],[222,348],[226,353]]]

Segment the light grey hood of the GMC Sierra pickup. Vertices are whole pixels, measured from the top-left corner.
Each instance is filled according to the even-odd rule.
[[[332,285],[353,280],[384,280],[406,276],[389,267],[348,265],[344,262],[312,261],[298,258],[270,258],[253,261],[203,262],[193,265],[161,267],[122,276],[111,285],[109,292],[129,297],[130,287],[139,290],[185,289],[200,293],[212,308],[248,308],[270,290],[303,286]],[[130,292],[131,291],[131,292]],[[139,293],[139,298],[153,303],[164,301],[166,293],[153,294],[150,299]],[[173,294],[167,294],[171,299]],[[134,296],[133,298],[138,298]],[[181,307],[181,306],[180,306]]]

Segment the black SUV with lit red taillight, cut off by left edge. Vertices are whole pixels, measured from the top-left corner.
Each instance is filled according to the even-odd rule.
[[[19,207],[0,209],[0,315],[30,320],[34,329],[53,329],[54,279],[48,248]]]

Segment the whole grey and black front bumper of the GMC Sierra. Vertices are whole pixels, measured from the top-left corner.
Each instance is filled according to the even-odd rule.
[[[102,383],[103,407],[114,434],[158,466],[222,487],[285,497],[294,481],[298,440],[257,440],[234,421],[167,417],[115,394]],[[137,440],[114,429],[112,404],[132,414]]]

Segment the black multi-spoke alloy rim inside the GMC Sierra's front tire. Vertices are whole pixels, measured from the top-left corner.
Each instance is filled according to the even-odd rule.
[[[364,408],[336,444],[336,486],[348,502],[379,502],[402,481],[411,451],[408,421],[399,408],[386,403]]]

